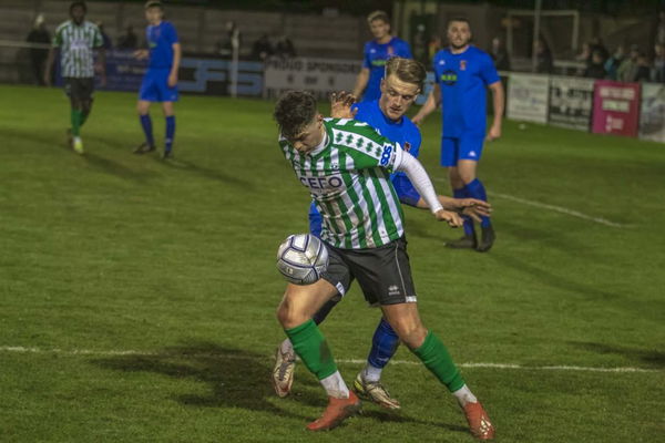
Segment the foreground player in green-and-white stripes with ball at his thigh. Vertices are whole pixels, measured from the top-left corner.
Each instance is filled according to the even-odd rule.
[[[366,300],[381,307],[400,340],[458,399],[467,400],[460,404],[471,432],[481,440],[491,439],[493,427],[482,405],[443,343],[420,321],[403,214],[390,173],[405,172],[438,220],[457,227],[461,218],[443,209],[420,162],[367,124],[324,119],[314,96],[299,91],[284,94],[274,116],[284,155],[324,218],[321,239],[329,256],[321,279],[307,286],[289,284],[277,310],[295,352],[329,396],[324,414],[307,427],[332,429],[360,409],[313,320],[324,303],[344,296],[357,279]]]

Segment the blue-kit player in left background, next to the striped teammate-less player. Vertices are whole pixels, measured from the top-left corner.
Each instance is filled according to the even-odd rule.
[[[182,51],[175,27],[171,22],[162,20],[163,17],[164,7],[161,1],[145,3],[145,19],[147,20],[145,39],[149,49],[136,51],[139,59],[149,59],[149,68],[143,76],[136,106],[145,142],[136,147],[134,153],[145,154],[155,150],[149,111],[152,102],[160,102],[166,117],[166,137],[162,158],[168,158],[175,136],[173,103],[177,101],[177,70]]]

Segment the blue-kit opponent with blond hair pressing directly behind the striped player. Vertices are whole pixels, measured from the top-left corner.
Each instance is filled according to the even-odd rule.
[[[424,66],[416,60],[392,58],[386,64],[386,78],[381,80],[381,96],[379,100],[354,105],[352,112],[349,112],[348,104],[350,102],[347,102],[348,104],[346,109],[341,110],[341,114],[334,110],[331,115],[334,117],[352,117],[355,114],[355,120],[367,123],[379,134],[393,143],[399,143],[405,151],[417,157],[421,142],[420,130],[405,114],[422,90],[426,76]],[[337,94],[334,96],[334,103],[347,99],[344,94]],[[350,99],[352,101],[354,97]],[[392,174],[391,182],[402,204],[422,209],[429,208],[403,172]],[[477,218],[481,215],[489,215],[489,205],[481,200],[472,198],[456,199],[442,195],[439,195],[438,198],[443,208],[448,210],[463,209],[467,214]],[[313,203],[309,210],[310,233],[319,237],[321,225],[321,215]],[[314,316],[314,321],[317,324],[323,322],[340,299],[341,297],[338,296],[326,302],[324,308]],[[382,369],[397,352],[398,344],[399,337],[397,332],[381,318],[374,334],[367,365],[365,370],[358,373],[354,383],[355,391],[361,398],[371,400],[388,409],[399,409],[400,404],[383,388],[380,378]],[[285,396],[290,390],[296,364],[295,352],[288,339],[278,347],[276,356],[273,384],[277,394]]]

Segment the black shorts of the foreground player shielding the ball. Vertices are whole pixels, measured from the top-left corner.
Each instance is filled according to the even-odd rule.
[[[340,249],[329,244],[329,264],[323,278],[344,296],[354,279],[372,306],[415,303],[416,287],[402,237],[388,245],[369,249]]]

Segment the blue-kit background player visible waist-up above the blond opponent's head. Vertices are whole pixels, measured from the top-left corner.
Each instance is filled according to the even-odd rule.
[[[364,101],[379,100],[381,79],[386,61],[391,56],[412,59],[411,48],[406,41],[390,34],[390,19],[383,11],[375,11],[367,17],[374,40],[365,43],[362,69],[356,80],[354,96]],[[365,94],[364,94],[365,92]]]

